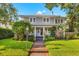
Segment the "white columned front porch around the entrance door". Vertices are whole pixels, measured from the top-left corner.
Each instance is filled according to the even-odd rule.
[[[34,28],[33,34],[34,34],[35,40],[37,38],[42,38],[44,40],[46,35],[48,36],[50,35],[50,32],[49,32],[50,27],[34,26],[33,28]]]

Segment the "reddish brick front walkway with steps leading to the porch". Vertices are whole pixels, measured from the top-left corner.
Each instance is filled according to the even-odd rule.
[[[48,50],[44,46],[43,40],[36,40],[30,50],[30,56],[48,56]]]

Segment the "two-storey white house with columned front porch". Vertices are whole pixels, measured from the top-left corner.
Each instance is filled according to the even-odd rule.
[[[20,15],[20,20],[29,21],[33,27],[33,35],[35,37],[45,37],[45,35],[50,35],[48,31],[52,26],[57,26],[59,24],[65,24],[66,18],[60,16],[52,15]]]

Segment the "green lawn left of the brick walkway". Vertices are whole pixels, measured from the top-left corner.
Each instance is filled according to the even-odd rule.
[[[27,56],[31,46],[32,42],[2,39],[0,40],[0,56]]]

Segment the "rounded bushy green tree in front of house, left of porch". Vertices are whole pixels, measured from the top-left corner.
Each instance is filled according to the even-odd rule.
[[[24,39],[26,27],[29,28],[28,32],[31,32],[32,27],[31,27],[31,24],[29,22],[18,21],[18,22],[14,23],[12,28],[13,28],[13,31],[15,33],[15,39],[17,39],[17,40]]]

